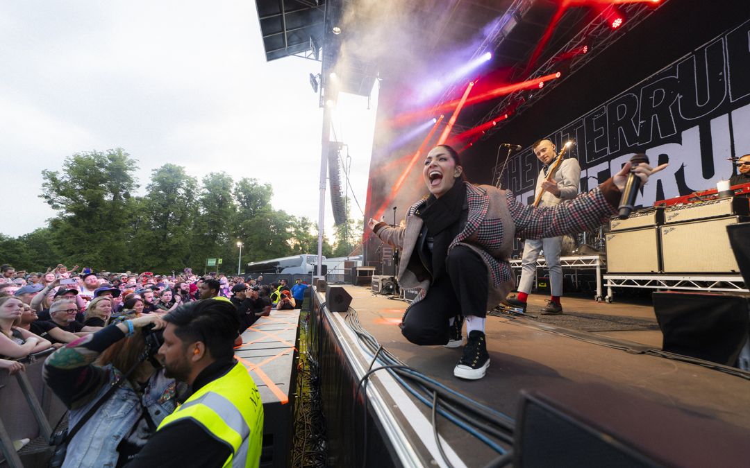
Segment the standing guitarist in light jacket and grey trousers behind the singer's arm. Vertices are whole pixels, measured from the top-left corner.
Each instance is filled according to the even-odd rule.
[[[563,200],[575,198],[580,183],[580,165],[578,165],[578,160],[574,158],[562,159],[562,163],[557,165],[555,170],[554,167],[558,155],[555,152],[555,145],[550,140],[544,139],[535,142],[532,145],[532,150],[541,163],[544,164],[544,167],[539,171],[539,177],[536,180],[536,190],[534,192],[535,198],[541,192],[541,201],[539,201],[538,206],[553,207]],[[560,156],[563,156],[563,154],[561,153]],[[551,177],[550,171],[553,171]],[[536,259],[539,256],[539,252],[544,250],[544,259],[547,261],[547,269],[550,272],[552,296],[547,300],[547,306],[541,309],[541,314],[562,314],[562,306],[560,305],[560,297],[562,296],[561,246],[562,237],[526,240],[523,246],[522,268],[517,299],[508,300],[512,306],[521,307],[523,308],[523,312],[526,312],[526,300],[529,297],[529,292],[531,292],[536,273]]]

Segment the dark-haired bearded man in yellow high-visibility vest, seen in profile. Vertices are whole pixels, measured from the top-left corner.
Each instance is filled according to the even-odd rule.
[[[234,359],[239,327],[227,300],[199,300],[164,317],[159,349],[165,374],[192,395],[166,416],[132,467],[257,467],[263,404],[253,379]]]

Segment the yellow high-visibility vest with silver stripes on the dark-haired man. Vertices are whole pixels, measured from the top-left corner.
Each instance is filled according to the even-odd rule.
[[[193,419],[232,448],[224,468],[257,467],[263,443],[263,403],[258,388],[240,363],[207,383],[163,419],[157,431],[181,419]]]

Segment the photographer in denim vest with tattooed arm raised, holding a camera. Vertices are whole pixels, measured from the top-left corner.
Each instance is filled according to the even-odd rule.
[[[44,363],[46,383],[70,410],[50,466],[122,467],[177,407],[185,386],[154,359],[163,341],[155,331],[164,326],[160,315],[130,311],[117,320]]]

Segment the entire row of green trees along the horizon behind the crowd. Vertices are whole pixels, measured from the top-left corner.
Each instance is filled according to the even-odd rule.
[[[145,195],[134,195],[137,161],[122,149],[74,154],[60,171],[42,171],[40,198],[57,211],[48,225],[20,237],[0,234],[0,260],[17,269],[45,271],[58,263],[113,272],[167,273],[190,267],[202,273],[206,258],[223,258],[223,270],[242,263],[317,253],[317,226],[275,210],[272,186],[226,172],[200,180],[165,164],[151,171]],[[362,221],[337,226],[323,255],[349,255]]]

